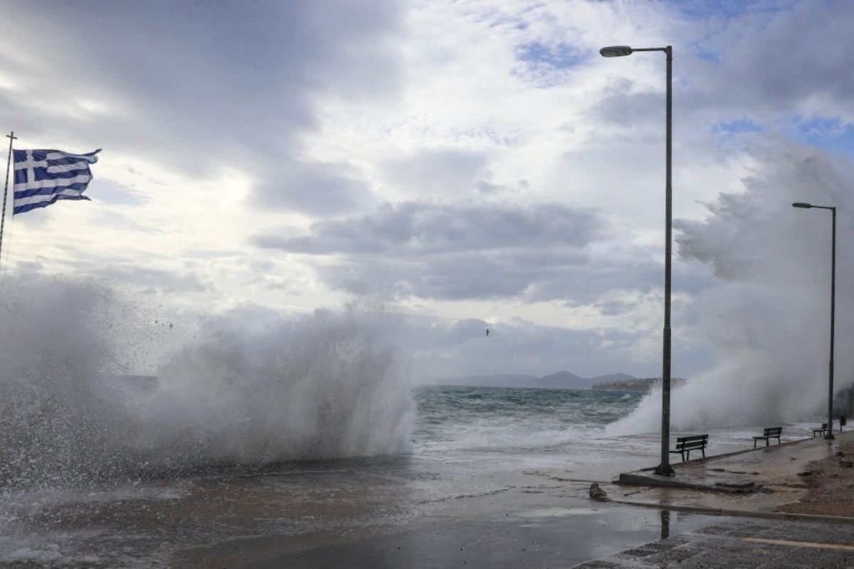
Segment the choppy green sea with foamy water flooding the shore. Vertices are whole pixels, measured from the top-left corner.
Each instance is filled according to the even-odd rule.
[[[149,396],[156,389],[150,379],[137,387]],[[29,434],[30,444],[50,448],[4,450],[0,564],[232,566],[229,544],[283,554],[387,534],[466,498],[494,502],[514,489],[556,485],[578,494],[592,481],[658,464],[658,433],[609,431],[644,393],[417,386],[410,396],[407,440],[375,456],[314,456],[321,449],[291,460],[217,463],[202,450],[156,467],[134,467],[115,454],[93,467],[63,454],[69,442],[82,456],[93,454],[85,444],[112,452],[91,423],[65,424],[86,427],[82,433],[62,433],[54,424],[47,433],[53,440],[39,439],[44,433],[35,425],[19,425],[30,429],[19,433]],[[3,428],[10,426],[7,417]],[[784,438],[809,436],[809,427],[789,426]],[[713,432],[709,451],[749,448],[753,431]],[[55,444],[61,439],[65,444]],[[148,448],[141,440],[132,444]]]

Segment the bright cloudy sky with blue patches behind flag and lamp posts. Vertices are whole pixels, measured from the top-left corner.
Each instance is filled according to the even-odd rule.
[[[374,299],[424,375],[658,375],[665,59],[599,49],[672,45],[673,373],[757,322],[821,346],[829,215],[790,204],[851,211],[852,20],[841,0],[5,0],[15,148],[103,150],[91,202],[7,223],[3,270],[96,275],[172,316]],[[781,287],[815,306],[751,312]]]

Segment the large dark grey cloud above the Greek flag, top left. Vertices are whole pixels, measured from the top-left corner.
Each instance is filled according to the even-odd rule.
[[[0,15],[0,61],[15,78],[0,89],[0,118],[22,143],[81,140],[198,178],[243,169],[267,208],[319,207],[288,199],[312,177],[318,194],[355,200],[348,177],[300,165],[313,97],[397,89],[389,38],[401,14],[383,0],[28,4]],[[90,131],[97,141],[86,142]],[[288,182],[283,163],[295,183],[270,200]]]

